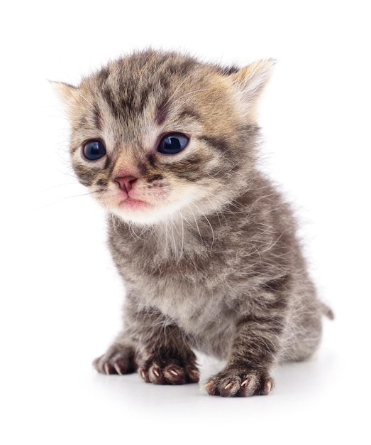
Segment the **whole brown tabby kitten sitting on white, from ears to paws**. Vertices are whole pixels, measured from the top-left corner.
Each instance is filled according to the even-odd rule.
[[[145,382],[199,381],[194,350],[226,359],[210,395],[267,395],[331,310],[316,298],[291,210],[258,171],[255,107],[274,62],[222,68],[146,50],[79,87],[56,83],[79,181],[109,215],[126,284],[123,331],[94,361]]]

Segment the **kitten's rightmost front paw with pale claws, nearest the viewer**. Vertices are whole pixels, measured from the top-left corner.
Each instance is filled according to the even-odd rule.
[[[206,383],[209,395],[221,397],[247,397],[268,395],[273,387],[273,379],[265,372],[238,369],[223,370]]]

